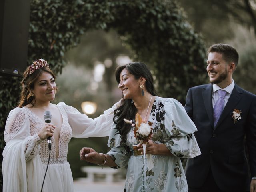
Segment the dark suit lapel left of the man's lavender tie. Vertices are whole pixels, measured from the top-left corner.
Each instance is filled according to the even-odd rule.
[[[213,109],[212,109],[212,84],[208,84],[205,88],[203,88],[202,96],[203,96],[204,106],[205,106],[207,115],[210,119],[212,128],[214,128]]]

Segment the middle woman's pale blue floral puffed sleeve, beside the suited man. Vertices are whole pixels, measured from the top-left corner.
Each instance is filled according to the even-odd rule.
[[[164,103],[165,130],[170,140],[166,147],[174,156],[194,158],[201,154],[194,132],[196,126],[188,117],[184,107],[175,99],[166,98]]]

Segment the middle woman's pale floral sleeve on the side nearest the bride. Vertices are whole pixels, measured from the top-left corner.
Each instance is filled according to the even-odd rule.
[[[111,147],[111,150],[107,154],[118,165],[112,168],[127,168],[131,156],[130,148],[125,143],[121,143],[120,134],[118,134],[116,128],[110,129],[108,147]]]

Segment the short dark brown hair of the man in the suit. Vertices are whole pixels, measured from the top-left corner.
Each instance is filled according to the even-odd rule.
[[[239,55],[234,47],[228,44],[214,44],[209,47],[208,54],[212,52],[221,53],[223,59],[228,63],[234,63],[236,66],[238,64]]]

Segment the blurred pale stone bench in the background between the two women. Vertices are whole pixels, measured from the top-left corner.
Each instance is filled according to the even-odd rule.
[[[106,182],[115,182],[117,180],[117,175],[120,173],[119,169],[112,169],[110,167],[101,166],[83,166],[81,171],[87,173],[87,180],[95,182],[102,178]]]

